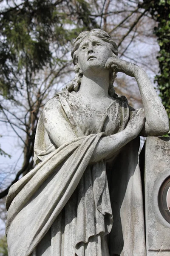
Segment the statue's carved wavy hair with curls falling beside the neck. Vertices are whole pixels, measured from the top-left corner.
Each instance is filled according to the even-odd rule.
[[[69,92],[71,91],[77,91],[79,89],[79,86],[81,84],[82,80],[82,71],[79,67],[78,63],[78,49],[79,45],[82,43],[82,41],[89,35],[94,35],[98,38],[101,38],[103,41],[108,43],[108,47],[111,49],[111,51],[114,53],[115,57],[117,58],[118,55],[118,49],[116,46],[116,43],[112,40],[111,36],[108,35],[107,32],[101,30],[101,29],[92,29],[91,31],[85,31],[79,34],[79,36],[76,38],[74,42],[74,47],[71,51],[71,56],[73,58],[73,64],[74,64],[74,73],[76,74],[75,78],[67,85],[67,89]],[[110,96],[115,96],[115,90],[113,88],[113,82],[116,78],[116,70],[115,68],[112,70],[110,74],[110,81],[109,81],[109,90],[108,93]]]

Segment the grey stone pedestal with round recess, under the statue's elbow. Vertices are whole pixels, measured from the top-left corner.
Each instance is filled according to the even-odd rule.
[[[147,137],[144,157],[147,256],[170,256],[170,212],[165,206],[170,178],[170,138]]]

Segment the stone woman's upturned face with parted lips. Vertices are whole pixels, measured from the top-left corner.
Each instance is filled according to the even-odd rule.
[[[86,37],[78,49],[79,67],[84,75],[104,69],[108,58],[115,56],[108,43],[94,35]]]

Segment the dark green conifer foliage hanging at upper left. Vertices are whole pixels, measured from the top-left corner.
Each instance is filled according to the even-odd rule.
[[[66,47],[80,30],[97,26],[85,0],[22,0],[18,5],[9,0],[10,4],[14,7],[0,13],[0,93],[7,98],[22,88],[20,78],[27,71],[51,67],[59,47]]]

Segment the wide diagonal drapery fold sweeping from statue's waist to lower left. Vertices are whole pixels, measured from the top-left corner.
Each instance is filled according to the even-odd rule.
[[[31,254],[77,187],[101,136],[91,134],[57,149],[11,187],[7,204],[17,195],[8,209],[9,255]]]

